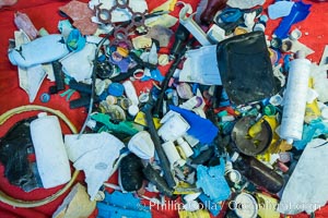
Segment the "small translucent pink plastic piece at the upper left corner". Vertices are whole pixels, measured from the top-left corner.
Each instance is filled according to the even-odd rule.
[[[22,29],[31,40],[35,39],[38,35],[37,29],[33,25],[27,14],[22,12],[15,13],[14,23],[19,29]]]

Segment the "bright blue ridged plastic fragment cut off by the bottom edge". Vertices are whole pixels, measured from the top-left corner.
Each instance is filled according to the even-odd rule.
[[[97,203],[98,218],[151,218],[150,207],[141,204],[131,193],[105,193],[105,199]]]

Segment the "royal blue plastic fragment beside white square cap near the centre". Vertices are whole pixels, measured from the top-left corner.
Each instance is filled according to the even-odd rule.
[[[188,135],[191,135],[199,140],[200,143],[212,143],[218,135],[219,129],[208,119],[201,118],[198,114],[176,106],[169,106],[169,110],[178,112],[189,123],[190,129],[187,131]]]

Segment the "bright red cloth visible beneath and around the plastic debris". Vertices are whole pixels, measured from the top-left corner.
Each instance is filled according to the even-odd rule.
[[[13,38],[14,31],[16,27],[14,25],[14,12],[20,11],[26,13],[32,22],[34,23],[37,29],[44,27],[49,33],[58,33],[57,25],[59,20],[63,20],[65,17],[60,16],[58,13],[58,8],[68,3],[69,0],[19,0],[19,2],[10,8],[0,9],[0,114],[5,112],[9,109],[28,105],[28,98],[24,90],[19,87],[17,80],[17,68],[11,65],[8,60],[7,50],[9,45],[9,39]],[[87,0],[83,0],[83,2],[89,2]],[[148,0],[150,10],[159,5],[160,3],[165,2],[164,0],[152,1]],[[186,3],[191,3],[194,10],[198,4],[198,0],[186,0]],[[272,0],[268,0],[266,7],[269,3],[272,3]],[[315,50],[314,55],[311,55],[308,58],[314,62],[319,62],[320,57],[323,55],[323,50],[325,45],[328,45],[328,3],[316,3],[313,1],[305,0],[305,3],[312,3],[311,14],[306,19],[296,25],[293,28],[297,27],[302,31],[303,36],[300,39],[301,43],[305,44],[313,50]],[[174,13],[177,15],[178,9],[176,8]],[[267,13],[267,10],[265,10]],[[266,29],[266,34],[272,34],[272,31],[279,24],[280,20],[269,21]],[[260,64],[260,63],[259,63]],[[163,69],[167,70],[167,69]],[[40,90],[37,94],[36,100],[34,105],[42,105],[46,107],[50,107],[52,109],[57,109],[62,111],[68,118],[78,126],[80,130],[84,119],[85,111],[84,109],[69,109],[69,102],[65,100],[65,98],[59,95],[52,95],[51,99],[47,104],[43,104],[39,100],[39,96],[42,93],[48,92],[49,86],[54,85],[52,83],[45,80],[43,83]],[[254,84],[256,85],[256,84]],[[74,94],[72,98],[77,98],[78,94]],[[8,128],[12,126],[14,122],[22,119],[23,117],[28,117],[31,113],[24,113],[20,116],[15,116],[13,119],[10,119],[5,122],[4,125],[0,126],[0,136],[3,136],[7,132]],[[63,130],[68,132],[68,130]],[[314,166],[315,167],[315,166]],[[113,181],[116,181],[115,178],[112,178]],[[83,174],[81,173],[79,181],[83,181]],[[328,187],[327,187],[328,189]],[[8,183],[7,179],[3,177],[3,167],[0,167],[0,190],[8,193],[13,197],[17,197],[21,199],[38,199],[45,196],[49,196],[58,189],[51,190],[37,190],[32,193],[24,193],[19,187],[12,186]],[[300,191],[301,192],[301,191]],[[323,191],[327,192],[327,190]],[[66,196],[66,195],[65,195]],[[63,197],[59,197],[52,203],[40,206],[37,208],[13,208],[7,204],[0,203],[0,217],[33,217],[33,218],[42,218],[49,217],[56,210],[56,208],[61,204]],[[316,213],[316,217],[328,217],[328,213],[321,209]],[[167,217],[177,217],[178,215],[173,211],[165,210],[163,211]],[[155,217],[166,217],[164,214],[160,215],[155,213]],[[298,216],[298,217],[307,217]]]

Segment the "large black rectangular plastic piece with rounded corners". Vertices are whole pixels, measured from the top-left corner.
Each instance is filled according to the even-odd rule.
[[[251,32],[218,44],[222,84],[236,105],[262,100],[278,93],[265,34]],[[257,83],[261,81],[261,83]],[[253,84],[257,83],[257,86]]]

